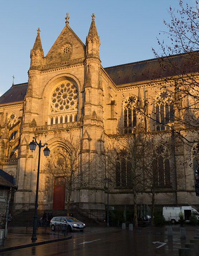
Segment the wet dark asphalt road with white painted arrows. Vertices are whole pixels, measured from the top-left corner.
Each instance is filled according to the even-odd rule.
[[[180,231],[176,229],[173,239],[168,239],[165,228],[134,229],[133,232],[85,230],[84,233],[73,232],[72,239],[64,242],[0,253],[0,256],[177,256],[178,248],[184,247],[194,235],[195,230],[188,230],[187,239],[180,239]]]

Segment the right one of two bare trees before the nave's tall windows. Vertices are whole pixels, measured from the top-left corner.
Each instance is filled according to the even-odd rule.
[[[173,143],[163,134],[147,133],[147,150],[144,152],[144,187],[151,193],[151,224],[154,225],[155,193],[166,193],[176,188]]]

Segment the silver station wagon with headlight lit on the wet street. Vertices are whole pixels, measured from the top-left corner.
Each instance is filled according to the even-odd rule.
[[[71,232],[72,230],[80,230],[83,231],[86,228],[86,225],[77,220],[74,217],[53,217],[50,220],[50,228],[54,231],[55,228],[58,228],[58,225],[68,224],[68,231]]]

